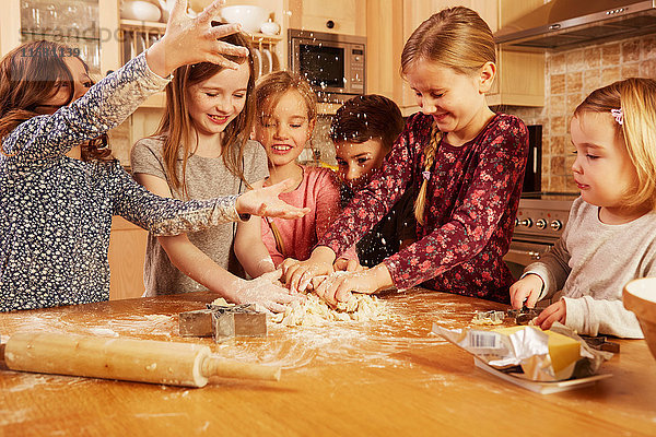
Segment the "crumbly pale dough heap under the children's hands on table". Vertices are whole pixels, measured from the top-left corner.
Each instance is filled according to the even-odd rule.
[[[315,293],[306,295],[305,300],[290,304],[284,312],[273,315],[271,321],[292,326],[315,326],[330,321],[370,321],[388,318],[384,302],[376,296],[354,293],[347,303],[339,303],[337,308],[317,296]]]

